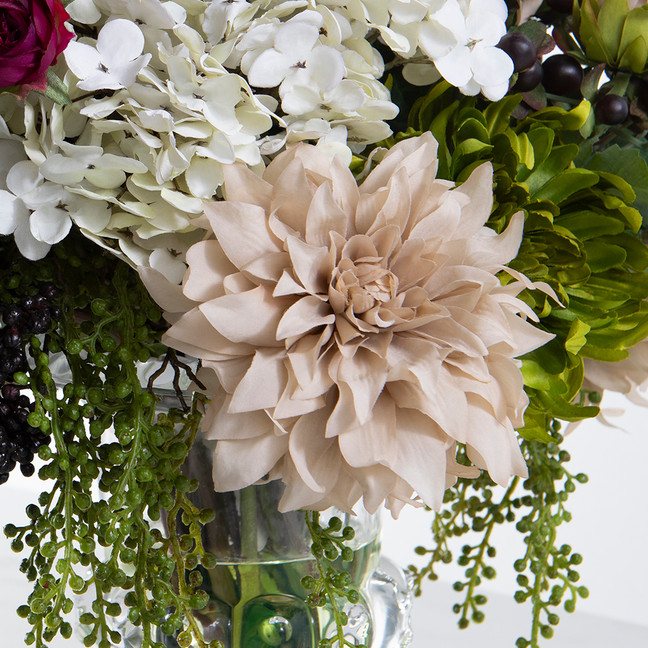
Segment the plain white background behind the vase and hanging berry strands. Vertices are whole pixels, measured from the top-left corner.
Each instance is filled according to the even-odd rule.
[[[567,508],[574,519],[560,527],[560,542],[571,544],[583,555],[579,571],[590,597],[579,602],[575,614],[561,614],[556,636],[542,644],[549,648],[648,648],[648,504],[644,492],[648,409],[629,405],[614,394],[604,405],[626,409],[623,416],[613,419],[622,429],[589,421],[566,442],[572,472],[587,473],[590,482],[570,497]],[[20,522],[25,506],[38,492],[37,479],[12,475],[0,486],[2,522]],[[402,566],[422,564],[413,549],[428,543],[431,516],[422,510],[406,510],[398,521],[386,519],[384,553]],[[468,630],[456,628],[451,607],[459,599],[451,583],[462,572],[456,565],[446,566],[441,580],[426,583],[423,596],[415,600],[412,648],[513,648],[518,636],[528,636],[529,609],[512,598],[516,589],[512,564],[522,552],[518,534],[505,528],[495,537],[495,544],[498,578],[485,590],[489,596],[486,621]],[[27,630],[26,622],[15,615],[30,591],[18,572],[19,562],[20,557],[11,553],[8,540],[1,536],[2,648],[24,645]],[[80,644],[57,639],[51,646],[77,648]]]

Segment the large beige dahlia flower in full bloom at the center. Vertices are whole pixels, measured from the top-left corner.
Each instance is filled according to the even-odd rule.
[[[515,427],[527,398],[514,358],[546,342],[520,314],[523,217],[484,226],[492,169],[437,180],[430,134],[394,146],[358,187],[342,162],[298,145],[259,178],[226,168],[205,211],[165,342],[218,375],[205,421],[214,483],[286,484],[282,510],[438,508],[457,442],[498,483],[524,475]]]

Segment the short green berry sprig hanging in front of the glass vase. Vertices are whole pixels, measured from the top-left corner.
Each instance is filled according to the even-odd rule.
[[[355,537],[352,527],[343,528],[342,520],[332,517],[328,525],[323,527],[318,511],[306,511],[306,524],[311,534],[311,552],[315,558],[319,578],[304,576],[303,587],[310,592],[306,602],[313,607],[329,606],[333,613],[336,632],[333,637],[322,638],[318,648],[367,648],[364,644],[350,643],[344,636],[344,627],[349,618],[341,609],[344,601],[355,604],[360,600],[360,593],[351,587],[351,576],[340,569],[335,561],[350,562],[353,560],[353,549],[346,546]]]

